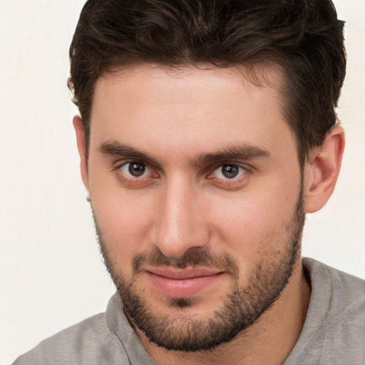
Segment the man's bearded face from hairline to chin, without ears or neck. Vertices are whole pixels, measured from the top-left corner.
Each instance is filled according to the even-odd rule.
[[[295,138],[278,88],[242,73],[144,65],[96,84],[86,185],[101,250],[126,314],[165,349],[230,341],[298,265]]]

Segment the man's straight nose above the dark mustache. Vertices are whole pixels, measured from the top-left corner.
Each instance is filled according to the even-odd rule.
[[[208,244],[210,230],[199,187],[174,179],[163,188],[156,207],[153,243],[167,257],[181,257]]]

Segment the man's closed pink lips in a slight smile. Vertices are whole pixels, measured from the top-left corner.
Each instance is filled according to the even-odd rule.
[[[170,298],[189,298],[200,294],[214,284],[224,272],[206,267],[174,269],[170,267],[151,267],[145,269],[153,287]]]

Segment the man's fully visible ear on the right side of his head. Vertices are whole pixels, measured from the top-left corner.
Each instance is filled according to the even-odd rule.
[[[313,213],[320,210],[331,197],[339,176],[345,135],[339,125],[334,125],[324,142],[314,148],[304,169],[304,211]]]

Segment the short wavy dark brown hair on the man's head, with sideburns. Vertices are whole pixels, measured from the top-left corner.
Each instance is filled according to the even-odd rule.
[[[330,0],[88,0],[70,58],[68,87],[87,148],[96,81],[115,66],[273,61],[284,70],[284,113],[301,165],[336,123],[346,69],[341,24]]]

